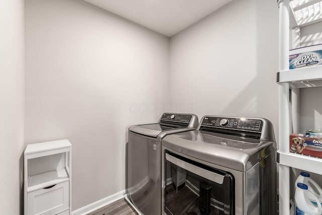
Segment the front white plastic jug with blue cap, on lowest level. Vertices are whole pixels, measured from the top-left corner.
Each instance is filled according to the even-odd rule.
[[[307,190],[306,184],[297,183],[295,189],[295,215],[321,215],[322,206],[318,199]],[[310,200],[313,198],[317,204],[313,204]]]

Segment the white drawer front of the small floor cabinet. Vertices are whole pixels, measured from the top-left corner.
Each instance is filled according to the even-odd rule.
[[[28,193],[28,214],[51,215],[68,208],[69,181]]]

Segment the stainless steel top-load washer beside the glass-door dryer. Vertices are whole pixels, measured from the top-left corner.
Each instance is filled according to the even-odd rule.
[[[127,197],[141,213],[161,214],[161,140],[198,124],[194,114],[164,113],[158,123],[129,128]]]

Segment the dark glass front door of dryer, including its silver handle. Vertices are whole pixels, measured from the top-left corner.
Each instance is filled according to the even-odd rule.
[[[166,168],[164,209],[167,213],[234,214],[231,174],[170,152],[166,152]]]

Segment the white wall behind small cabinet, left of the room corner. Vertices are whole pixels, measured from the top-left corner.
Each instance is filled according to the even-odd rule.
[[[83,1],[26,1],[25,140],[70,140],[72,210],[125,189],[127,128],[158,120],[168,77],[169,38]]]

